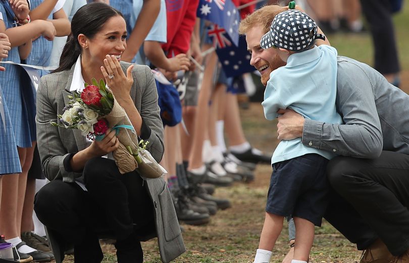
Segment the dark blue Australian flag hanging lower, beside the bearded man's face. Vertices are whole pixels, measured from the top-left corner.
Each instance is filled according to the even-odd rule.
[[[216,25],[215,25],[216,27]],[[220,28],[218,28],[220,30]],[[223,30],[223,28],[222,28]],[[212,31],[215,31],[212,28],[209,30],[209,35]],[[238,46],[229,45],[230,39],[227,35],[223,35],[213,38],[213,42],[216,44],[216,53],[219,57],[219,61],[223,66],[224,73],[227,77],[234,77],[241,75],[243,73],[252,72],[255,70],[253,66],[250,65],[251,55],[247,51],[247,42],[244,35],[239,37]],[[218,46],[219,40],[222,42],[222,45]],[[223,41],[224,40],[224,41]]]

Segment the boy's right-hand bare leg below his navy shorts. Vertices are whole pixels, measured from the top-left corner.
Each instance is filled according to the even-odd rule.
[[[294,217],[295,237],[294,259],[307,261],[314,242],[314,224],[304,218]]]

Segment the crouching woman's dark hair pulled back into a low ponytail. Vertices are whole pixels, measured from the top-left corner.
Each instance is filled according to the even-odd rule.
[[[68,36],[60,58],[60,66],[53,72],[71,69],[81,54],[78,35],[84,34],[92,38],[104,24],[114,16],[122,16],[121,12],[105,3],[93,2],[87,4],[74,14],[71,21],[71,34]]]

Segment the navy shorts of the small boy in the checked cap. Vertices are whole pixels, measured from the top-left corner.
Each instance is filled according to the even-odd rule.
[[[320,227],[328,205],[328,159],[305,154],[273,164],[266,211],[304,218]]]

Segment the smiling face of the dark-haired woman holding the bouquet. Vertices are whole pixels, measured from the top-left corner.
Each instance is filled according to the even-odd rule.
[[[94,37],[87,38],[87,59],[98,65],[104,65],[107,55],[114,55],[118,60],[126,48],[126,23],[121,16],[111,17]],[[84,54],[85,55],[85,54]]]

